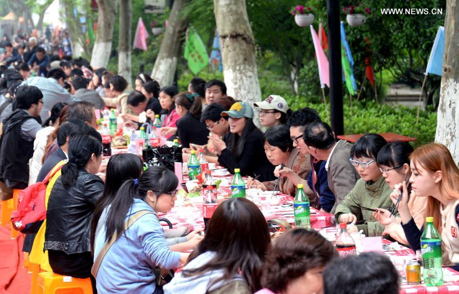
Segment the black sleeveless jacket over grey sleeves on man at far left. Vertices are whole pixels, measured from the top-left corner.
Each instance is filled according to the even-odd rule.
[[[29,183],[29,159],[34,154],[34,141],[24,140],[20,131],[22,124],[31,118],[34,117],[22,109],[17,109],[3,122],[0,138],[0,178],[2,179]]]

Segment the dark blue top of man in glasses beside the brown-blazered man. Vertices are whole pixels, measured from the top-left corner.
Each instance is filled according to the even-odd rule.
[[[319,193],[320,207],[325,211],[330,212],[333,205],[335,205],[335,195],[328,188],[328,175],[325,170],[326,161],[320,161],[314,164],[314,170],[317,173],[316,191]],[[314,171],[311,171],[308,175],[309,188],[313,189],[312,175]]]

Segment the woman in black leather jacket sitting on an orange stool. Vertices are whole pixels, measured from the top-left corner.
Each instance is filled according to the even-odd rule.
[[[91,219],[104,182],[95,174],[102,162],[102,145],[92,136],[74,135],[68,142],[68,163],[53,185],[46,210],[45,242],[53,272],[91,278]],[[34,242],[35,251],[36,246]]]

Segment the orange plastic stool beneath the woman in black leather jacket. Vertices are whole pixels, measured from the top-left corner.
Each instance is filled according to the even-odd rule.
[[[39,273],[37,294],[92,294],[91,279],[78,279],[55,273]]]

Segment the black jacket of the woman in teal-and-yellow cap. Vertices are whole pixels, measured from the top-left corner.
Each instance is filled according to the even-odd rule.
[[[232,135],[228,135],[226,148],[218,156],[218,162],[232,174],[234,174],[234,169],[240,169],[242,176],[260,176],[258,180],[261,182],[276,179],[274,177],[275,167],[266,158],[263,148],[263,133],[258,129],[248,132],[244,149],[238,158],[230,150],[232,138],[234,138]]]

